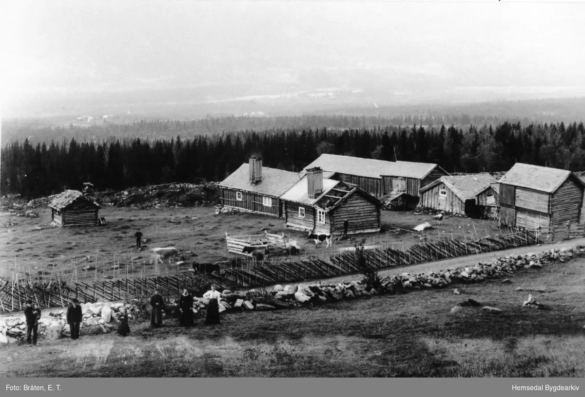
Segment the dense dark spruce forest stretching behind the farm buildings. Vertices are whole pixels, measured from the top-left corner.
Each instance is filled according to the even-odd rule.
[[[420,120],[418,120],[420,121]],[[161,126],[165,127],[161,130]],[[323,153],[393,161],[434,162],[449,172],[498,172],[515,162],[556,168],[585,169],[583,123],[529,124],[504,121],[497,126],[357,128],[270,128],[194,138],[190,123],[141,121],[116,128],[135,128],[133,137],[94,140],[87,128],[67,128],[77,138],[33,144],[27,138],[5,144],[1,151],[1,194],[41,197],[63,189],[98,190],[146,184],[222,180],[251,154],[265,166],[301,170]],[[98,128],[98,127],[94,127]],[[103,127],[99,127],[103,128]],[[52,136],[63,137],[60,128]],[[176,134],[170,139],[137,137],[140,131]],[[61,135],[59,135],[61,134]],[[35,135],[47,136],[42,129]],[[51,135],[49,135],[51,136]],[[80,140],[78,137],[85,137]]]

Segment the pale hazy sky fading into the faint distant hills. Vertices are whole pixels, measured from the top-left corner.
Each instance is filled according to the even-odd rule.
[[[74,93],[201,86],[207,99],[585,87],[585,2],[9,2],[5,113]]]

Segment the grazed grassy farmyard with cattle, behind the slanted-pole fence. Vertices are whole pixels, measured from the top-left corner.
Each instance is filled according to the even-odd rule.
[[[235,255],[228,253],[225,232],[228,234],[259,234],[267,228],[271,233],[285,232],[287,237],[297,240],[305,248],[303,255],[316,255],[324,259],[337,249],[353,246],[356,239],[366,238],[367,245],[406,248],[419,242],[418,232],[408,232],[422,222],[435,226],[428,231],[430,241],[441,238],[480,238],[500,232],[491,221],[472,220],[463,217],[447,217],[437,225],[428,214],[413,214],[383,211],[383,227],[386,231],[376,234],[354,235],[350,239],[335,242],[325,249],[315,249],[305,232],[292,231],[284,226],[280,218],[254,214],[215,215],[213,207],[158,208],[138,210],[136,208],[103,208],[107,225],[91,228],[53,228],[50,224],[49,208],[37,208],[38,218],[18,217],[13,213],[0,213],[0,277],[11,278],[14,270],[19,277],[45,280],[59,276],[61,280],[93,280],[94,278],[125,277],[129,273],[150,276],[155,273],[150,264],[148,248],[175,246],[197,256],[187,255],[187,260],[217,262]],[[39,230],[40,228],[40,230]],[[147,239],[142,251],[137,251],[134,233],[137,228]],[[390,231],[394,229],[394,231]],[[402,229],[402,230],[397,230]],[[426,232],[425,232],[426,234]],[[146,262],[144,266],[137,266]],[[119,264],[117,270],[112,270]],[[56,265],[56,266],[55,266]],[[95,271],[83,271],[85,266],[94,266]],[[171,264],[164,272],[176,274],[188,264]],[[29,276],[30,275],[30,276]]]

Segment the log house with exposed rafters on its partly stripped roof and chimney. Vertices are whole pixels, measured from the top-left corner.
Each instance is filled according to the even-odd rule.
[[[323,177],[319,168],[307,170],[291,189],[280,197],[284,222],[289,227],[315,233],[347,234],[378,232],[382,203],[355,184]]]

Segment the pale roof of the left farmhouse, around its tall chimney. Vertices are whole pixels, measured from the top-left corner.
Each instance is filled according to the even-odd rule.
[[[280,197],[290,189],[302,175],[297,172],[285,171],[276,168],[262,167],[262,177],[259,183],[250,184],[250,165],[243,163],[232,175],[219,183],[220,187],[252,191],[265,196]]]

